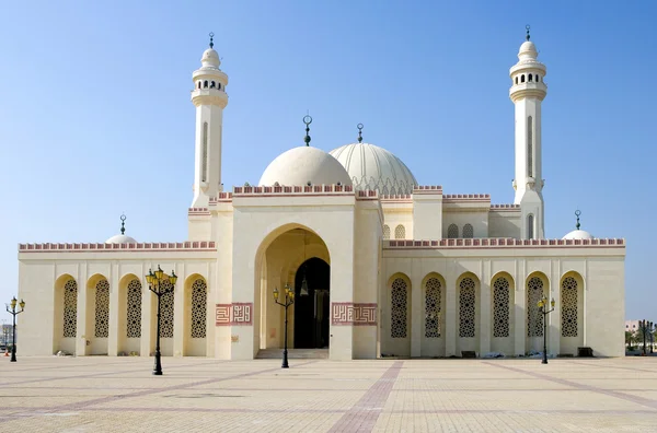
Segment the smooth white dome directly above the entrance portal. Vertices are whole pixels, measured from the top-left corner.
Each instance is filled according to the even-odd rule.
[[[278,155],[267,166],[258,185],[302,186],[308,185],[351,185],[349,174],[328,153],[318,148],[301,145]]]

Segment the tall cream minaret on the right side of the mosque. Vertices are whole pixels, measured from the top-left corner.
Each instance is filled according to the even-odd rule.
[[[514,203],[522,211],[523,239],[545,236],[543,220],[543,177],[541,162],[541,102],[548,93],[545,66],[537,60],[535,45],[527,40],[520,46],[518,62],[510,69],[509,96],[516,105],[516,178]]]

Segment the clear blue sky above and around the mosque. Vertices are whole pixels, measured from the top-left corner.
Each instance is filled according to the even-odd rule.
[[[0,13],[0,301],[18,291],[20,242],[104,242],[124,211],[140,242],[186,238],[192,71],[210,31],[230,78],[227,187],[302,144],[308,109],[315,147],[353,142],[362,122],[420,184],[511,202],[508,70],[529,23],[548,66],[546,235],[580,209],[583,229],[625,237],[626,317],[657,321],[657,3],[91,3]]]

